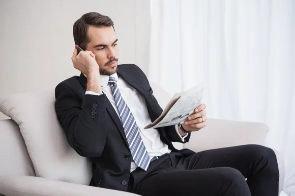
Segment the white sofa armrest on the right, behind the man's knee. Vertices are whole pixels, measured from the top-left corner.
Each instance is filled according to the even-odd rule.
[[[192,133],[184,148],[198,152],[245,144],[263,145],[268,130],[263,123],[208,119],[207,126]]]

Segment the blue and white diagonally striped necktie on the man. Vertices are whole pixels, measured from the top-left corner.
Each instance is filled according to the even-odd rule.
[[[117,79],[115,77],[110,77],[108,84],[111,86],[116,101],[133,160],[137,166],[147,171],[150,162],[148,151],[140,136],[134,117],[119,92]]]

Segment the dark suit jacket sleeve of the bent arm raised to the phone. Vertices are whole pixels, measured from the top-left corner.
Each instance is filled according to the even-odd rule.
[[[68,143],[85,157],[99,157],[106,142],[105,95],[81,99],[65,84],[56,87],[55,109]]]

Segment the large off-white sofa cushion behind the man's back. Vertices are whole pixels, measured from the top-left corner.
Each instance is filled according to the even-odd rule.
[[[54,91],[15,94],[0,98],[0,112],[19,125],[36,176],[88,185],[89,161],[68,145],[54,103]]]

